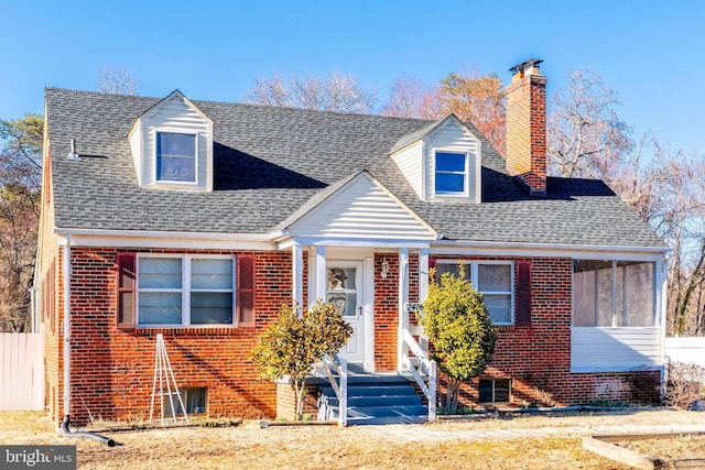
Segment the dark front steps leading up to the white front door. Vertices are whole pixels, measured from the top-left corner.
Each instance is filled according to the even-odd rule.
[[[337,379],[337,378],[336,378]],[[330,383],[319,382],[318,419],[338,419],[339,403]],[[348,375],[349,426],[366,424],[413,424],[429,420],[429,408],[415,387],[402,375]]]

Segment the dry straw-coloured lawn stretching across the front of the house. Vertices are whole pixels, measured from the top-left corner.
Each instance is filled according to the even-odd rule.
[[[181,428],[108,435],[123,446],[58,436],[36,413],[0,413],[0,444],[75,444],[82,469],[627,469],[583,449],[568,427],[618,424],[697,424],[705,414],[650,411],[581,416],[520,416],[412,426],[292,426],[261,429]],[[514,437],[511,429],[566,428],[551,437]],[[467,437],[506,430],[501,438]],[[408,434],[441,433],[445,440],[409,441]],[[458,438],[463,433],[465,437]]]

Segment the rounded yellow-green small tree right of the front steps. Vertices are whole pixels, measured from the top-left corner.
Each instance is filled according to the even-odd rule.
[[[421,324],[434,347],[438,369],[448,378],[445,407],[456,411],[463,381],[479,375],[492,360],[497,332],[485,307],[482,294],[460,276],[443,273],[429,286]]]

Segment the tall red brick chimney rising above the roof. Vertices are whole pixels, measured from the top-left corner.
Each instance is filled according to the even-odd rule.
[[[531,196],[546,195],[546,77],[532,58],[507,87],[507,170]]]

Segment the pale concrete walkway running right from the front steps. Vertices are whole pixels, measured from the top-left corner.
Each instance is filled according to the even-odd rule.
[[[446,430],[432,426],[417,425],[359,426],[356,430],[369,433],[376,438],[393,442],[447,441],[447,440],[494,440],[521,439],[544,436],[592,436],[596,434],[669,434],[669,433],[705,433],[705,424],[673,425],[610,425],[610,426],[565,426],[540,428],[513,428],[490,430]]]

